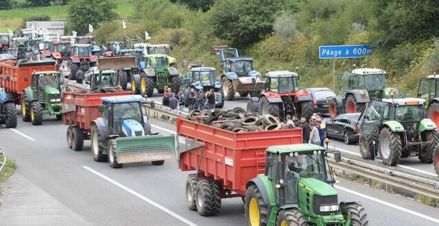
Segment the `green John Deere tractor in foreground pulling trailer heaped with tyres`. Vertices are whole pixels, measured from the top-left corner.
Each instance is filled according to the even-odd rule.
[[[361,203],[338,201],[325,151],[310,144],[269,147],[265,174],[246,185],[246,225],[368,225]]]

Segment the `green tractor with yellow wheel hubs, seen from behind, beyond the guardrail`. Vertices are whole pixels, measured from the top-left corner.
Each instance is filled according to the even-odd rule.
[[[132,91],[142,96],[152,97],[154,88],[163,93],[165,86],[175,92],[180,90],[181,79],[178,70],[169,66],[169,56],[164,54],[146,55],[146,67],[140,75],[132,75]]]

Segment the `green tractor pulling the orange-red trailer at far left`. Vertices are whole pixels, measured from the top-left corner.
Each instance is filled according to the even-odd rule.
[[[43,114],[55,115],[61,120],[61,75],[58,71],[32,73],[31,85],[21,92],[23,121],[32,125],[43,123]]]

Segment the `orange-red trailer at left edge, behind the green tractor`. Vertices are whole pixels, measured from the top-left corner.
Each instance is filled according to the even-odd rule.
[[[0,86],[14,95],[16,104],[20,104],[21,92],[31,85],[34,71],[56,71],[55,62],[0,62]]]

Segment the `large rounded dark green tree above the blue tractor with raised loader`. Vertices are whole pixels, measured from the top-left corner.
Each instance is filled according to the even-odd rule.
[[[217,0],[209,10],[214,34],[235,45],[250,44],[272,32],[282,0]]]

